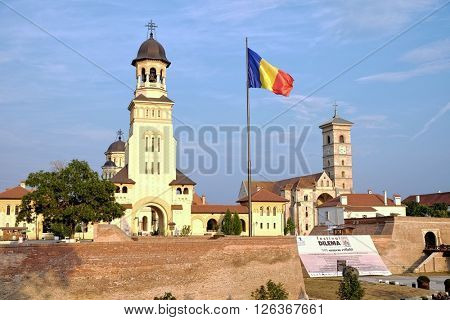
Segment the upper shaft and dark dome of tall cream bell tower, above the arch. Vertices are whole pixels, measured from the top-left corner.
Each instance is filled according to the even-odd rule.
[[[176,140],[173,137],[172,109],[168,98],[166,70],[170,61],[155,39],[156,24],[150,21],[147,40],[139,47],[131,65],[136,69],[135,97],[128,106],[128,176],[136,182],[137,198],[167,192],[176,178]],[[164,200],[170,203],[169,199]]]

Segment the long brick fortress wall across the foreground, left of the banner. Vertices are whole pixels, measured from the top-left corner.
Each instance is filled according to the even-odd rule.
[[[295,238],[0,247],[0,299],[251,299],[269,279],[304,296]]]

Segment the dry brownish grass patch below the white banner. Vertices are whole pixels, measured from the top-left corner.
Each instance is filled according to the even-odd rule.
[[[310,299],[338,300],[337,290],[341,278],[305,278],[306,293]],[[363,300],[400,300],[431,295],[431,291],[382,283],[361,281],[365,289]]]

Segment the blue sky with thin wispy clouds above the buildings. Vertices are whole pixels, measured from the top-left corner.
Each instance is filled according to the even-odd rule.
[[[179,166],[209,202],[234,202],[246,177],[239,137],[230,149],[223,134],[206,139],[217,154],[212,173],[200,168],[196,142],[205,125],[245,126],[245,37],[295,79],[289,97],[251,89],[252,125],[304,138],[293,169],[262,167],[254,179],[320,172],[318,126],[336,102],[354,122],[355,192],[450,191],[450,5],[438,0],[0,0],[0,189],[55,160],[101,171],[116,131],[128,132],[130,63],[150,19],[172,62],[174,125],[195,132],[177,136],[180,155],[196,154]],[[286,144],[256,145],[255,162],[288,154]]]

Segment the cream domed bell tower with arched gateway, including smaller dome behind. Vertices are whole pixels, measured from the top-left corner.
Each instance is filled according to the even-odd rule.
[[[195,182],[176,168],[174,102],[168,97],[170,61],[153,33],[131,63],[136,90],[128,110],[128,140],[106,151],[103,177],[116,185],[116,200],[125,215],[112,223],[129,235],[170,235],[191,226]]]

